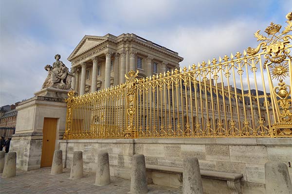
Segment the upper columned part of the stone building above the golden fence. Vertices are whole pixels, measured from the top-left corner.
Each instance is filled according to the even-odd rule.
[[[72,63],[72,88],[83,95],[125,82],[125,74],[139,70],[139,77],[179,68],[183,58],[133,33],[114,36],[85,35],[68,57]]]

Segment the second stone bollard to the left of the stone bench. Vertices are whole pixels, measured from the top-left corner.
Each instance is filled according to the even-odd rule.
[[[97,170],[95,176],[95,185],[104,186],[110,184],[110,162],[109,154],[99,153],[97,155]]]

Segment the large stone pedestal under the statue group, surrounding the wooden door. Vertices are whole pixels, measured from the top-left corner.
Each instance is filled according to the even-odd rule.
[[[17,152],[17,168],[36,170],[40,168],[44,118],[56,118],[56,140],[65,131],[67,90],[45,88],[35,97],[19,103],[15,134],[10,151]],[[57,146],[55,146],[57,147]]]

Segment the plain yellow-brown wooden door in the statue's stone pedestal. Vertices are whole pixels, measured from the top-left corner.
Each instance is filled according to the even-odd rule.
[[[55,151],[57,118],[44,118],[40,167],[52,166]]]

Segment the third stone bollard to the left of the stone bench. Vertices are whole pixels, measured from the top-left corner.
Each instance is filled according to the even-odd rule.
[[[82,151],[74,151],[73,160],[71,163],[71,179],[78,179],[83,177],[83,158]]]

